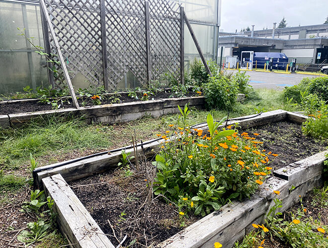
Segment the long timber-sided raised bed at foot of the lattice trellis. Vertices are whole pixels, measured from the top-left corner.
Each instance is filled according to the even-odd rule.
[[[112,103],[113,96],[120,95],[121,103]],[[140,101],[128,97],[127,92],[110,93],[104,97],[108,101],[103,101],[102,105],[73,108],[72,104],[64,101],[61,109],[52,110],[50,104],[39,103],[39,99],[8,100],[0,102],[0,127],[20,126],[38,117],[46,116],[76,116],[82,117],[88,124],[104,123],[113,124],[116,122],[129,122],[149,114],[159,117],[166,114],[178,113],[177,105],[183,106],[186,103],[190,107],[204,108],[205,99],[202,96],[189,96],[184,98],[169,98],[171,93],[159,92],[154,100]],[[105,99],[104,98],[104,99]],[[70,101],[69,97],[66,97]],[[152,99],[152,97],[150,97]],[[244,94],[239,94],[237,100],[243,101]],[[82,98],[80,102],[84,101]],[[71,101],[72,102],[72,101]],[[92,104],[87,98],[86,105]],[[82,105],[80,105],[82,106]]]

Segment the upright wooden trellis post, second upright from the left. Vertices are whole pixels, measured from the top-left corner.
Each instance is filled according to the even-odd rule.
[[[108,69],[107,69],[107,43],[106,43],[106,14],[105,0],[100,0],[100,31],[101,31],[101,48],[102,48],[102,70],[104,75],[104,86],[106,91],[109,90],[108,85]]]

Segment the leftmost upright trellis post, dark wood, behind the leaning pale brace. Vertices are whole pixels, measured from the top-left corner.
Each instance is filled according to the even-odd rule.
[[[43,12],[43,9],[40,8],[41,12],[41,23],[42,23],[42,33],[43,33],[43,41],[44,41],[44,50],[46,54],[48,54],[48,59],[52,59],[51,56],[51,49],[50,49],[50,42],[49,42],[49,29],[48,29],[48,22],[46,16]],[[47,71],[48,71],[48,81],[49,84],[55,88],[55,80],[54,80],[54,72],[51,70],[53,64],[51,62],[47,62]]]

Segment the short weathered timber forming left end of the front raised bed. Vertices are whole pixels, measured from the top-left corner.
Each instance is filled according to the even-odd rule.
[[[42,182],[47,195],[55,201],[59,227],[72,247],[114,248],[60,174]]]

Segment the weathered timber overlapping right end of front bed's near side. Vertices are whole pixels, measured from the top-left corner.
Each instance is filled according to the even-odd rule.
[[[324,171],[324,161],[327,151],[317,153],[301,161],[292,163],[273,172],[275,177],[288,180],[289,186],[299,186],[321,175]]]

